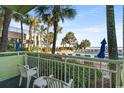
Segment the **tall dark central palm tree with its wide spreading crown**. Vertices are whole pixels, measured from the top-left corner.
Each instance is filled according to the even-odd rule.
[[[38,10],[40,10],[38,12]],[[57,29],[58,29],[58,23],[60,21],[64,22],[64,19],[73,19],[76,15],[76,11],[73,8],[69,8],[67,6],[60,6],[60,5],[54,5],[54,6],[38,6],[36,8],[36,13],[38,13],[41,17],[44,17],[46,14],[47,16],[50,16],[50,21],[53,24],[54,29],[54,39],[53,39],[53,46],[52,46],[52,54],[55,53],[55,47],[56,47],[56,39],[57,39]]]

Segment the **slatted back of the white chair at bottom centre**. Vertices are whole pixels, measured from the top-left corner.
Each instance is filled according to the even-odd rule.
[[[59,80],[53,77],[44,77],[44,79],[47,82],[48,88],[71,88],[72,87],[73,80],[71,80],[71,83],[66,83],[62,80]]]

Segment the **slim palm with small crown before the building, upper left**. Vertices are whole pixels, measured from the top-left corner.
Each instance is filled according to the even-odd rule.
[[[23,23],[24,23],[23,16],[20,15],[20,14],[14,13],[13,18],[15,19],[16,22],[20,21],[20,26],[21,26],[21,47],[23,47]]]

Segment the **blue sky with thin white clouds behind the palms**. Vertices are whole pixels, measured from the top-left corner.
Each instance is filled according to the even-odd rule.
[[[65,19],[60,23],[63,27],[62,33],[58,34],[57,46],[60,46],[62,38],[67,32],[74,32],[77,41],[80,43],[84,39],[91,42],[91,47],[100,47],[103,38],[107,40],[106,30],[106,7],[100,5],[73,5],[77,15],[73,20]],[[35,14],[31,12],[31,14]],[[122,6],[115,6],[115,24],[118,47],[122,46]],[[12,20],[11,26],[20,27],[19,23]],[[27,26],[24,26],[28,29]],[[51,29],[51,31],[53,31]]]

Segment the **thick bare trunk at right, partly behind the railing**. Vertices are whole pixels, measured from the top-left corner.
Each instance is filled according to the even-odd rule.
[[[114,6],[106,6],[107,15],[107,39],[108,39],[108,55],[109,59],[118,59],[117,51],[117,40],[115,32],[115,17],[114,17]],[[116,70],[116,65],[110,64],[110,69]],[[112,74],[112,87],[115,87],[116,75]]]

